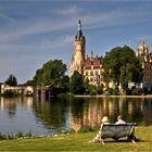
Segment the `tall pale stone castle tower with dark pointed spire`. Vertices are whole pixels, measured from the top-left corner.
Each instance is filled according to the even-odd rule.
[[[83,74],[83,67],[85,64],[85,46],[86,39],[85,36],[83,36],[81,22],[79,20],[78,31],[74,38],[74,52],[69,64],[69,77],[73,75],[74,71],[77,71],[79,72],[79,74]]]

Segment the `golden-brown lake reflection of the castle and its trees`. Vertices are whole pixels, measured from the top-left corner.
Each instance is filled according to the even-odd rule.
[[[84,127],[97,127],[105,115],[111,123],[116,122],[118,114],[126,122],[138,125],[152,125],[152,100],[147,98],[77,98],[71,103],[69,125],[78,130]]]

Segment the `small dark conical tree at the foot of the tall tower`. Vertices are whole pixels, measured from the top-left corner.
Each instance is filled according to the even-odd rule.
[[[83,94],[85,92],[84,78],[77,71],[71,77],[69,90],[74,94]]]

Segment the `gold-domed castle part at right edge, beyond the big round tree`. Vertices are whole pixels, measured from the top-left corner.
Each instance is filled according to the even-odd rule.
[[[142,72],[143,79],[142,84],[140,84],[141,88],[152,88],[152,52],[149,51],[149,48],[142,41],[139,47],[136,55],[139,56],[142,61]]]

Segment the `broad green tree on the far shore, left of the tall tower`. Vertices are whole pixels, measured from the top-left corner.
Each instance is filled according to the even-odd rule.
[[[50,60],[36,71],[33,80],[27,84],[49,87],[52,96],[68,91],[69,78],[65,75],[66,65],[61,60]]]

